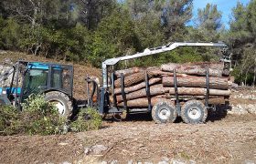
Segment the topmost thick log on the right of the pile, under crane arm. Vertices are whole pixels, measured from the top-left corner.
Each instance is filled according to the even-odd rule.
[[[169,63],[162,65],[161,69],[167,72],[173,72],[176,69],[176,73],[206,76],[206,67],[208,67],[208,74],[211,77],[222,77],[223,74],[223,63],[187,63],[187,64],[175,64]]]

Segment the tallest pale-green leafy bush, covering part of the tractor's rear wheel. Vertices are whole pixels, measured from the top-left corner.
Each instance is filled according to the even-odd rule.
[[[31,95],[22,105],[21,113],[25,133],[29,135],[51,135],[67,133],[67,118],[59,115],[58,110],[46,102],[42,95]]]

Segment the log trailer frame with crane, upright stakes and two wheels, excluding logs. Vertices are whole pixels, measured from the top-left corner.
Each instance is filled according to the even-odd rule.
[[[120,108],[117,106],[115,90],[115,71],[114,66],[124,60],[134,59],[143,56],[152,56],[167,51],[172,51],[180,46],[212,46],[223,48],[223,56],[220,59],[221,62],[224,62],[224,66],[229,69],[231,67],[230,55],[227,53],[228,46],[224,43],[170,43],[166,46],[155,47],[151,49],[145,49],[142,53],[137,53],[132,56],[121,56],[116,58],[107,59],[102,62],[102,85],[99,88],[99,85],[95,80],[90,77],[87,77],[87,89],[88,89],[88,106],[91,108],[97,108],[101,115],[105,114],[121,114],[126,113],[151,113],[152,118],[156,123],[166,123],[174,122],[176,117],[181,117],[186,123],[201,123],[206,120],[208,117],[208,109],[213,109],[216,106],[208,102],[209,97],[209,75],[208,67],[206,67],[206,95],[204,97],[204,102],[197,100],[197,98],[192,98],[188,100],[185,104],[181,104],[181,98],[179,97],[177,79],[176,79],[176,70],[174,70],[174,89],[175,89],[175,100],[163,100],[159,101],[152,105],[151,94],[150,94],[150,85],[149,77],[145,72],[144,83],[145,83],[145,92],[148,102],[147,108],[131,108],[127,105],[126,92],[124,89],[124,79],[125,77],[121,74],[121,88],[122,88],[122,97],[123,97],[123,107]],[[90,93],[90,84],[92,84],[92,91]],[[95,96],[97,95],[97,96]],[[97,97],[97,98],[95,98]],[[97,100],[95,100],[97,99]]]

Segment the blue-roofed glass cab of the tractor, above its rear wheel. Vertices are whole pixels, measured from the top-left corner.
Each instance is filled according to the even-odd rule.
[[[23,80],[23,99],[31,94],[56,90],[72,97],[73,67],[57,64],[27,63]]]

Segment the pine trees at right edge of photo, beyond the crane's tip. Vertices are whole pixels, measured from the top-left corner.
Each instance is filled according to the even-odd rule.
[[[230,21],[229,43],[233,49],[237,81],[240,84],[255,85],[256,82],[256,1],[251,0],[249,5],[238,2],[232,10]]]

